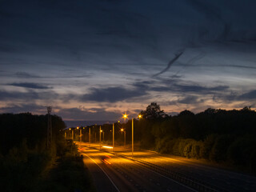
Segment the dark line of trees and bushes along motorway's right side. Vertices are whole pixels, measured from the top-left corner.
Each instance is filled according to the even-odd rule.
[[[140,114],[140,120],[134,119],[134,142],[142,149],[205,159],[235,170],[256,173],[256,112],[250,107],[242,110],[207,109],[198,114],[184,110],[172,117],[153,102]],[[115,123],[115,127],[116,143],[123,143],[123,133],[118,131],[122,127],[129,144],[131,120],[124,124]],[[112,125],[104,125],[102,130],[106,143],[111,144]]]

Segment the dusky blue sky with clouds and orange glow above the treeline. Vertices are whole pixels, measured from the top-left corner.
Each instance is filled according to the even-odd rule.
[[[0,113],[256,107],[255,0],[1,0]]]

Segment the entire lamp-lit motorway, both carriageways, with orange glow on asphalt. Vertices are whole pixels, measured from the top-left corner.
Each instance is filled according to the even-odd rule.
[[[164,174],[163,170],[195,179],[196,183],[216,186],[209,191],[256,191],[256,178],[246,174],[150,151],[136,151],[132,158],[130,151],[123,147],[116,147],[113,154],[111,149],[99,150],[99,146],[95,144],[76,144],[84,156],[84,162],[98,191],[198,191],[193,187],[194,183],[186,185],[186,182],[181,182],[183,180]],[[162,171],[151,169],[152,166],[144,166],[139,162],[148,162],[153,168],[154,165],[159,166]]]

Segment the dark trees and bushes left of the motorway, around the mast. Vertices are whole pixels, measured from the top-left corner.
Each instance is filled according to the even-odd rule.
[[[62,118],[51,115],[53,142],[46,148],[47,115],[0,114],[2,191],[94,191]]]

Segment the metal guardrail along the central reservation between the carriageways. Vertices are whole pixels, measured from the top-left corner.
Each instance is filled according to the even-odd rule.
[[[91,148],[94,148],[94,147],[91,147]],[[96,148],[94,148],[94,149],[98,150]],[[173,170],[167,170],[163,166],[158,166],[158,165],[155,165],[153,163],[143,161],[139,158],[130,158],[126,155],[116,154],[116,153],[110,152],[108,150],[103,150],[103,151],[105,151],[107,153],[110,153],[110,154],[114,154],[114,155],[116,155],[118,157],[121,157],[121,158],[127,158],[127,159],[130,159],[130,160],[134,161],[134,162],[138,162],[138,163],[140,163],[140,165],[146,166],[150,170],[154,170],[154,171],[158,172],[159,174],[162,174],[162,175],[166,176],[167,178],[171,178],[174,181],[180,182],[183,185],[189,186],[190,188],[192,188],[194,190],[198,190],[200,192],[228,192],[228,190],[218,188],[217,186],[212,186],[209,183],[199,181],[198,179],[191,178],[191,177],[189,177],[185,174],[181,174],[181,173],[178,173],[178,172],[173,171]]]

